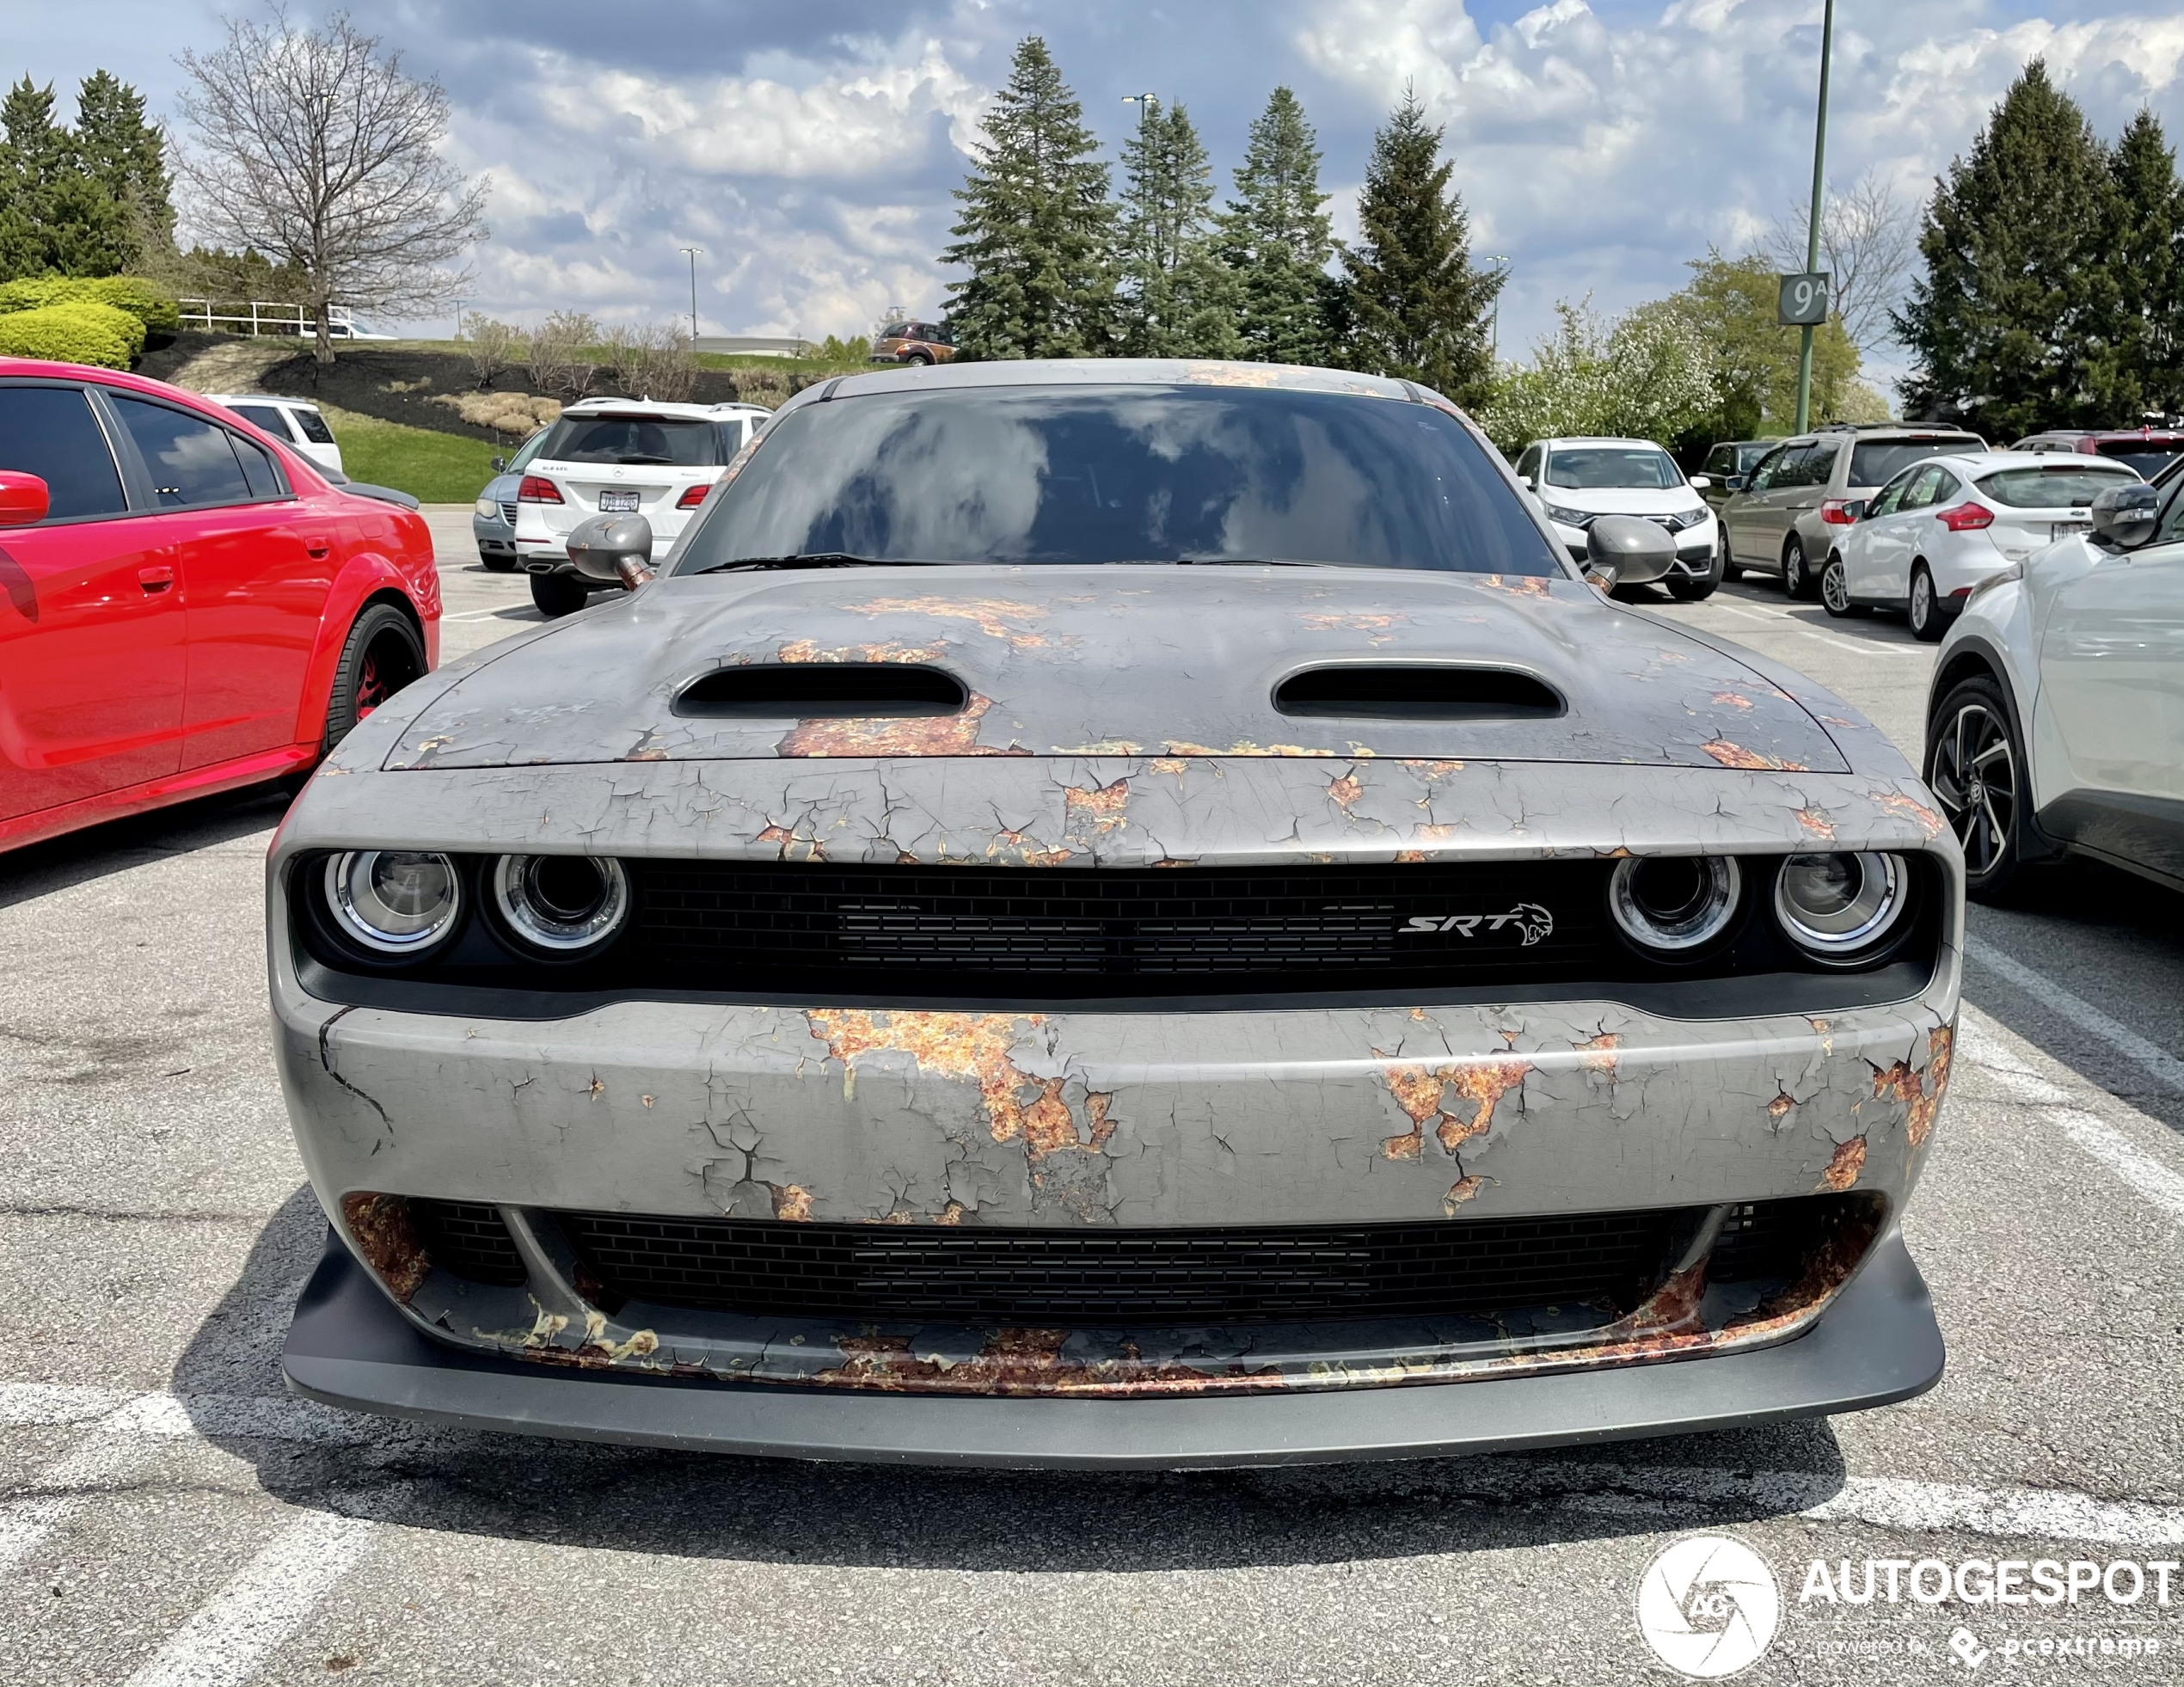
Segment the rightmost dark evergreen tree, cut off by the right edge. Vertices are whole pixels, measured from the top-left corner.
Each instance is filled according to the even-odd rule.
[[[2105,426],[2184,409],[2184,184],[2160,120],[2140,109],[2108,160],[2099,264],[2112,295],[2090,389]]]

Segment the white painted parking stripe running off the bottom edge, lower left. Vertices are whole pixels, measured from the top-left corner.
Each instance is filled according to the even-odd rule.
[[[371,1549],[371,1525],[306,1512],[197,1611],[129,1687],[229,1687],[258,1665]]]

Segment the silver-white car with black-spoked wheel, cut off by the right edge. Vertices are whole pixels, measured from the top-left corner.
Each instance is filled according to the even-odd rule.
[[[1972,590],[1935,660],[1926,778],[1970,894],[2066,854],[2184,889],[2184,479]]]

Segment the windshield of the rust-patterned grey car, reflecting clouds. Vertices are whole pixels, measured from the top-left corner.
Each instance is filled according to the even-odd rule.
[[[1302,562],[1562,575],[1431,404],[1254,387],[957,387],[769,426],[677,573],[738,562]]]

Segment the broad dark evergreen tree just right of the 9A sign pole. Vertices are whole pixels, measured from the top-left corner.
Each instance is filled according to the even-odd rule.
[[[2116,288],[2110,201],[2092,125],[2033,59],[1926,205],[1926,273],[1894,315],[1915,365],[1909,413],[1961,415],[2001,439],[2112,426],[2097,391]]]

